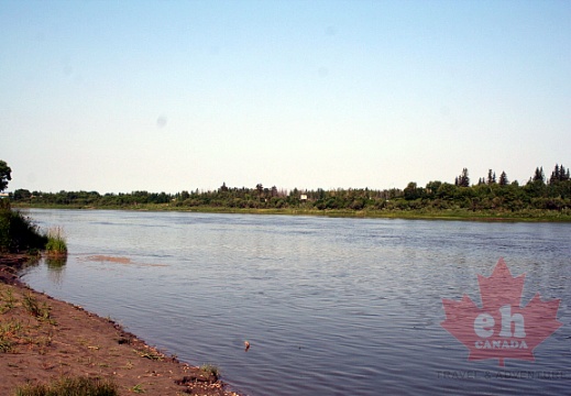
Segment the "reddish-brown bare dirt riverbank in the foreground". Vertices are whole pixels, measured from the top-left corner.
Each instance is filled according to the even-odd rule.
[[[0,256],[0,395],[25,384],[90,377],[119,395],[238,396],[216,367],[194,367],[147,345],[110,319],[37,293],[18,277],[26,255]]]

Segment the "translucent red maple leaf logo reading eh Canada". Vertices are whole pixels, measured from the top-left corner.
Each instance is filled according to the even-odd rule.
[[[513,277],[503,258],[490,277],[477,275],[482,308],[463,295],[442,298],[446,320],[440,324],[470,351],[469,361],[504,359],[535,361],[534,349],[563,323],[557,320],[559,299],[541,301],[537,293],[520,307],[525,274]]]

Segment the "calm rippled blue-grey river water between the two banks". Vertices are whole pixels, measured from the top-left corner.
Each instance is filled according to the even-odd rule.
[[[30,210],[69,257],[33,288],[116,319],[246,395],[569,394],[571,224]],[[106,261],[108,256],[122,262]],[[504,257],[521,306],[561,299],[535,362],[468,361],[442,298],[482,305]],[[125,263],[127,261],[129,263]],[[537,323],[536,323],[537,324]],[[540,326],[540,324],[537,324]],[[244,352],[244,341],[251,343]]]

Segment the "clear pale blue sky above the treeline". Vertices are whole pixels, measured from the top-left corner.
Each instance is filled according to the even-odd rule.
[[[0,0],[9,191],[525,184],[570,103],[565,0]]]

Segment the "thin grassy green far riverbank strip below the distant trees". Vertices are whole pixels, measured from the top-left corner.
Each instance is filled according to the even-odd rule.
[[[136,204],[125,206],[77,206],[77,205],[30,205],[12,204],[14,209],[84,209],[84,210],[140,210],[182,211],[199,213],[251,213],[285,216],[326,216],[352,218],[410,219],[410,220],[463,220],[463,221],[525,221],[525,222],[571,222],[569,210],[470,210],[457,209],[315,209],[315,208],[229,208],[229,207],[182,207],[171,204]]]

